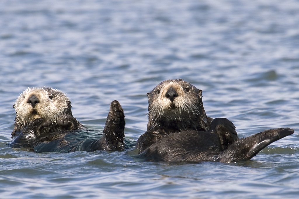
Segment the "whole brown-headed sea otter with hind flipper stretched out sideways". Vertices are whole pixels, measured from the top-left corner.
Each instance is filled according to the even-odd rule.
[[[206,116],[202,91],[181,79],[161,82],[147,96],[147,132],[140,136],[136,148],[140,156],[151,160],[251,159],[272,142],[294,133],[293,129],[278,128],[239,139],[228,119]]]

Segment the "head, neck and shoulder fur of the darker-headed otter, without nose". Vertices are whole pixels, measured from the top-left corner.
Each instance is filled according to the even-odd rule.
[[[171,101],[167,95],[174,89],[177,97]],[[147,93],[148,125],[147,132],[137,141],[141,153],[151,144],[165,136],[184,130],[209,129],[211,118],[207,117],[202,103],[202,90],[182,80],[166,80]]]

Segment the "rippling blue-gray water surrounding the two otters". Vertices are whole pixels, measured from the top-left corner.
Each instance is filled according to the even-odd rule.
[[[0,198],[297,198],[299,1],[0,1]],[[125,136],[145,132],[163,80],[203,90],[210,117],[239,137],[295,133],[251,161],[167,164],[135,152],[32,153],[7,147],[16,97],[51,86],[83,125],[103,130],[109,104]]]

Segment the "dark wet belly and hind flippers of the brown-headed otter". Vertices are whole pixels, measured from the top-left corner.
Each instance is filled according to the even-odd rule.
[[[140,156],[155,161],[229,163],[249,160],[272,142],[294,133],[293,129],[278,128],[239,139],[232,125],[226,118],[216,118],[208,132],[173,133],[149,146]],[[232,135],[229,135],[231,130]]]

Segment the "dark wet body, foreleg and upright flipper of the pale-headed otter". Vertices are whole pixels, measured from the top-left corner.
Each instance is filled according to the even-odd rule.
[[[123,109],[118,101],[111,102],[110,111],[106,119],[106,125],[102,135],[96,135],[93,130],[87,128],[55,131],[52,133],[41,133],[34,139],[24,139],[25,136],[35,134],[52,125],[51,122],[39,118],[31,122],[19,136],[20,142],[12,142],[13,147],[25,147],[37,153],[41,152],[74,152],[74,151],[95,151],[95,150],[123,150],[124,148],[124,119]],[[62,124],[61,124],[62,125]],[[101,137],[100,137],[101,136]],[[100,137],[100,138],[98,138]],[[16,140],[15,140],[16,141]]]

